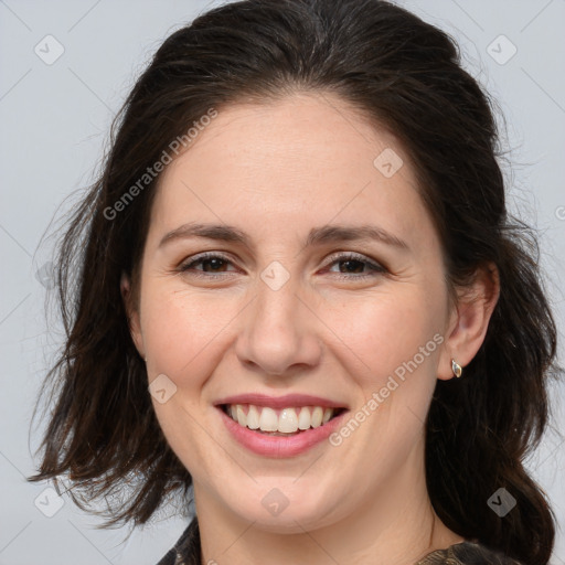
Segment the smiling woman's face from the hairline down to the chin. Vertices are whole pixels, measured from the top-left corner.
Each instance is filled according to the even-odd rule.
[[[330,95],[220,111],[161,177],[140,284],[135,340],[198,507],[290,533],[422,487],[451,322],[395,137]],[[244,429],[226,403],[310,429]],[[329,406],[347,412],[320,426]]]

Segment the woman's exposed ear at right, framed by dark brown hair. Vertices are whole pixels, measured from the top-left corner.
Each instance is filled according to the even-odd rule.
[[[451,359],[461,367],[468,365],[479,351],[490,317],[500,296],[500,276],[497,266],[489,263],[477,269],[470,287],[459,294],[446,333],[439,359],[437,377],[448,381],[454,377]]]

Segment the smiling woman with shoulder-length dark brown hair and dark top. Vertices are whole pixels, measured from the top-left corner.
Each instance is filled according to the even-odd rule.
[[[547,564],[532,241],[444,32],[381,0],[212,10],[137,82],[60,247],[33,480],[85,505],[142,477],[110,524],[192,486],[163,565]]]

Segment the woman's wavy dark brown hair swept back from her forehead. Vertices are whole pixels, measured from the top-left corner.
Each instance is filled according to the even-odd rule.
[[[546,379],[557,372],[536,239],[507,213],[492,100],[462,70],[457,45],[382,0],[230,3],[158,50],[116,118],[104,170],[58,247],[66,342],[45,381],[54,408],[31,480],[67,476],[77,503],[87,504],[140,473],[109,524],[143,523],[167,494],[190,487],[158,425],[120,296],[122,271],[137,289],[159,175],[119,213],[108,210],[211,107],[296,90],[335,93],[401,139],[440,235],[451,290],[489,262],[497,265],[501,292],[484,342],[463,379],[436,386],[427,486],[452,531],[545,565],[554,520],[522,465],[546,425]],[[501,486],[518,500],[503,519],[487,505]]]

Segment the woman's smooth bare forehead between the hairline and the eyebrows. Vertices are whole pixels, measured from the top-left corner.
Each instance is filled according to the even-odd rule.
[[[407,238],[415,224],[431,230],[416,186],[393,134],[332,94],[301,94],[221,109],[162,173],[151,227],[202,220],[306,233],[335,221]]]

